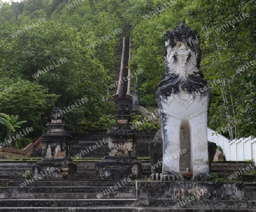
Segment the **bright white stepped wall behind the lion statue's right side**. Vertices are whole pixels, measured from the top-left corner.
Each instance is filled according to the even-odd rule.
[[[208,141],[216,143],[223,149],[226,160],[243,161],[254,159],[256,164],[256,138],[251,135],[248,138],[234,139],[230,141],[221,134],[216,134],[207,128]]]

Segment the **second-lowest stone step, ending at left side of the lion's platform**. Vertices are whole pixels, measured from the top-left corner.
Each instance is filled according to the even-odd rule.
[[[134,207],[135,198],[132,199],[89,199],[89,200],[1,200],[1,207]]]

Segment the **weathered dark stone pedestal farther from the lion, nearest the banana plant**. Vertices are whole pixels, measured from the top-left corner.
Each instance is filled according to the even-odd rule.
[[[45,173],[47,178],[67,178],[77,172],[77,164],[70,158],[72,136],[60,108],[52,111],[51,122],[46,126],[47,132],[42,134],[43,159],[36,163],[38,166],[34,167],[33,173]]]

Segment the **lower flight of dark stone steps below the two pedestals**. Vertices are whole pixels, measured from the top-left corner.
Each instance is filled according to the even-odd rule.
[[[171,206],[137,207],[137,194],[134,185],[127,184],[114,191],[120,180],[80,180],[80,181],[38,181],[20,188],[21,181],[14,181],[9,186],[0,188],[4,198],[0,200],[1,211],[255,211],[256,185],[246,185],[245,193],[250,191],[250,200],[236,202],[237,210],[204,210],[198,208]],[[110,190],[111,193],[103,193]],[[102,193],[101,198],[97,195]],[[204,202],[210,205],[210,202]],[[242,210],[242,207],[251,209]]]

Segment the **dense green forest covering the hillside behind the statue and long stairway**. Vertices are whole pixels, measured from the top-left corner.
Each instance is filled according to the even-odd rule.
[[[163,35],[181,20],[201,35],[200,69],[213,96],[209,127],[231,139],[256,135],[253,0],[0,1],[0,20],[0,113],[33,128],[24,145],[42,134],[54,107],[82,98],[88,101],[67,113],[73,132],[113,124],[109,85],[117,80],[123,36],[132,37],[131,72],[143,70],[139,102],[156,108]],[[0,125],[1,141],[7,126]]]

